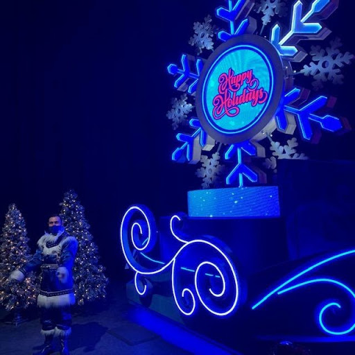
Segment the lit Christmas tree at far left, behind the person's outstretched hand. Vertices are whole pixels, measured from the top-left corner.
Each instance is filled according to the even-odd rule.
[[[38,294],[38,279],[32,272],[24,282],[7,281],[10,273],[24,265],[29,257],[24,217],[15,205],[10,205],[0,236],[0,304],[7,311],[14,310],[15,317],[19,310],[35,303]]]

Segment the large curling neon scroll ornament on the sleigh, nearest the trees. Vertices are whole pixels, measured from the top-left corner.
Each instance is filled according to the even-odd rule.
[[[152,291],[154,275],[171,272],[171,288],[181,313],[193,315],[202,306],[218,317],[230,315],[239,304],[239,279],[227,247],[211,236],[191,238],[181,230],[184,215],[170,218],[172,257],[159,260],[157,227],[150,210],[130,207],[121,222],[121,248],[135,271],[135,288],[144,297]]]

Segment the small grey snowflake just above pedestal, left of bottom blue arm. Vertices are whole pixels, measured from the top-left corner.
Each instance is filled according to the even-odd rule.
[[[202,168],[198,168],[196,176],[202,178],[202,189],[209,189],[211,185],[218,185],[221,183],[220,175],[225,171],[225,166],[220,165],[219,153],[212,154],[211,159],[206,155],[201,156]]]

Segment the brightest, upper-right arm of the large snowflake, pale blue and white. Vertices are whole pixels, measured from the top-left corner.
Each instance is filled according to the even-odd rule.
[[[301,0],[296,1],[293,5],[290,31],[282,37],[279,24],[275,24],[271,30],[270,42],[282,57],[301,62],[306,53],[295,44],[300,40],[324,40],[330,31],[324,28],[319,20],[329,17],[337,7],[337,1],[334,0],[313,0],[309,12],[302,16],[303,3]]]

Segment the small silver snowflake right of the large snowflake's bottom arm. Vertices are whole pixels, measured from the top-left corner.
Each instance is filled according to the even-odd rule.
[[[297,138],[295,137],[293,137],[293,139],[288,139],[286,146],[282,146],[278,141],[270,141],[270,143],[270,150],[274,152],[272,153],[273,157],[266,158],[263,162],[263,166],[267,169],[272,169],[274,172],[276,172],[277,168],[277,159],[308,159],[304,153],[300,154],[295,150],[298,146]]]

